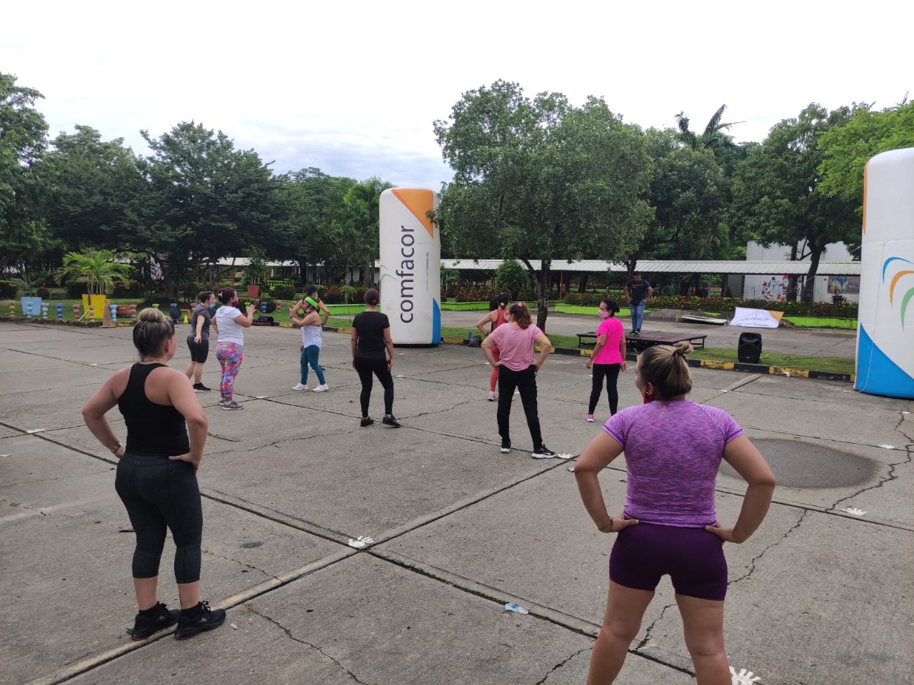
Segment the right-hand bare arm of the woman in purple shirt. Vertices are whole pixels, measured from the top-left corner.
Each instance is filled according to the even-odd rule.
[[[761,456],[761,452],[752,444],[749,437],[741,435],[727,443],[724,458],[736,469],[749,487],[743,497],[742,509],[733,528],[705,526],[706,531],[728,543],[744,543],[761,525],[774,494],[774,471]]]

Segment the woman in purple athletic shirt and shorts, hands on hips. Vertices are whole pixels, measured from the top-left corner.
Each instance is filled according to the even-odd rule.
[[[622,669],[644,610],[669,574],[683,618],[685,646],[698,685],[729,685],[724,651],[727,562],[723,543],[742,543],[771,504],[774,473],[742,428],[722,409],[685,399],[692,380],[688,342],[649,347],[635,364],[641,406],[622,409],[590,441],[575,465],[581,500],[600,532],[618,532],[610,556],[606,617],[590,658],[589,685],[611,683]],[[611,517],[597,475],[625,451],[625,509]],[[720,459],[748,488],[732,528],[718,524],[714,491]]]

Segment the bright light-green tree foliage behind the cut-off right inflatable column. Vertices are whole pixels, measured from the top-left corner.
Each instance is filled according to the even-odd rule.
[[[906,98],[882,111],[872,111],[866,103],[856,105],[846,123],[823,132],[818,144],[824,154],[818,168],[819,192],[853,203],[863,216],[866,163],[879,153],[914,147],[914,102]]]

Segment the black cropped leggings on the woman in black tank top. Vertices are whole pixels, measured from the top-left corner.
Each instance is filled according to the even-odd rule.
[[[190,462],[125,454],[117,465],[114,489],[136,532],[133,577],[159,574],[167,527],[176,547],[175,580],[196,583],[200,579],[203,509]]]

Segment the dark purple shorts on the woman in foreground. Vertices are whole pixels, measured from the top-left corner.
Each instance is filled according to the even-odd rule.
[[[723,601],[727,596],[724,541],[704,528],[639,523],[622,529],[612,545],[610,580],[653,591],[669,574],[677,595]]]

